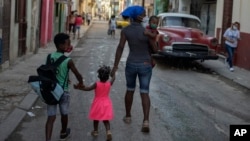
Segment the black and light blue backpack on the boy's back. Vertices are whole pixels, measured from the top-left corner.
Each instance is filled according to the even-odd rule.
[[[30,76],[28,83],[32,89],[40,96],[43,102],[49,105],[58,104],[61,96],[64,93],[64,86],[67,76],[65,77],[63,87],[58,84],[56,75],[58,66],[67,58],[62,55],[55,62],[52,62],[51,55],[47,57],[45,65],[37,68],[38,76]]]

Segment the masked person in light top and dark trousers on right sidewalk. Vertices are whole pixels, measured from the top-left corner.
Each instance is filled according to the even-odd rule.
[[[234,71],[233,68],[233,56],[234,51],[238,46],[238,40],[240,40],[240,23],[234,22],[231,27],[229,27],[224,33],[223,37],[225,39],[225,48],[227,50],[226,63],[229,65],[229,70]]]

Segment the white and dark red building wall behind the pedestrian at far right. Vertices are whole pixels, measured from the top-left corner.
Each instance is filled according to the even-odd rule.
[[[250,13],[249,0],[217,0],[216,37],[220,41],[218,52],[225,54],[223,33],[235,21],[240,23],[241,40],[235,52],[235,65],[250,70]],[[226,54],[225,54],[226,55]]]

